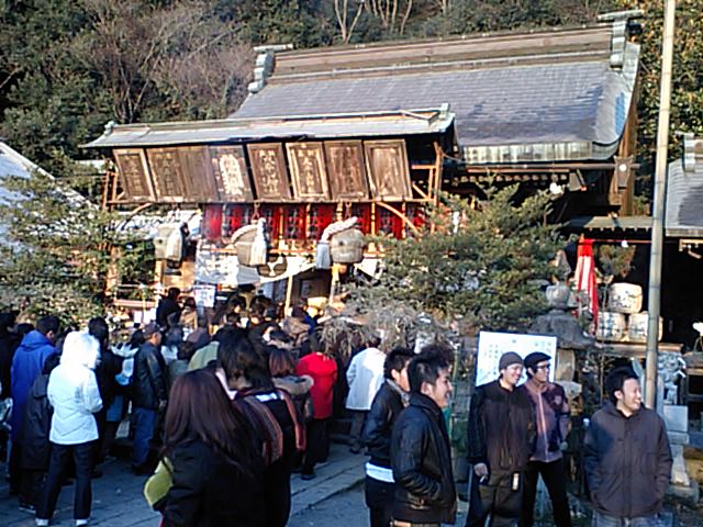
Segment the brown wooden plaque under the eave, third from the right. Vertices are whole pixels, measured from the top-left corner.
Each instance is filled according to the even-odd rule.
[[[322,143],[288,143],[286,149],[293,195],[303,201],[330,199]]]

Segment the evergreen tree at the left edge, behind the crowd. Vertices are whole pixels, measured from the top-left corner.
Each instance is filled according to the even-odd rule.
[[[102,313],[110,249],[125,243],[115,216],[40,172],[3,187],[11,199],[0,201],[0,306],[66,322]]]

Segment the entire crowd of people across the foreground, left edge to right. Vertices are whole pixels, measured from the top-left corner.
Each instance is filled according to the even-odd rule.
[[[124,343],[99,317],[62,330],[55,316],[30,326],[0,314],[0,388],[12,401],[0,444],[11,493],[37,526],[49,525],[71,480],[76,525],[88,524],[91,480],[129,415],[132,470],[150,475],[147,498],[164,526],[282,527],[291,474],[313,479],[328,456],[341,382],[350,452],[369,457],[371,527],[455,523],[449,348],[381,350],[373,337],[342,358],[303,305],[283,316],[264,296],[235,300],[211,335],[212,314],[191,300],[181,306],[179,295],[170,290],[155,322]],[[562,460],[569,407],[549,380],[550,361],[506,352],[498,379],[475,390],[467,526],[531,527],[540,476],[555,524],[571,525]],[[606,392],[583,447],[594,525],[654,526],[671,468],[663,423],[641,406],[631,369],[611,372]]]

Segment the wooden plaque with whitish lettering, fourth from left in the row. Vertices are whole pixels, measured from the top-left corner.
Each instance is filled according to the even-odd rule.
[[[211,146],[210,160],[223,202],[254,200],[243,146]]]

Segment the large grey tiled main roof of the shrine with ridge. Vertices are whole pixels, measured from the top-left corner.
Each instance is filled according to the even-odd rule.
[[[232,117],[448,103],[470,161],[606,159],[625,125],[639,55],[626,43],[624,64],[613,67],[610,32],[284,53]]]

